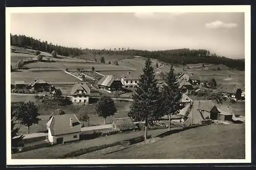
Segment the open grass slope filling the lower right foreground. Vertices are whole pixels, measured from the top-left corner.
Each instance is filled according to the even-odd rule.
[[[245,159],[245,127],[244,124],[202,126],[167,136],[156,143],[97,157],[97,159],[120,158]]]

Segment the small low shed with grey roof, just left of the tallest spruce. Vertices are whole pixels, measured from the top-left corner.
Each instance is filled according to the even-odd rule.
[[[121,131],[129,131],[129,130],[138,129],[138,127],[134,124],[132,118],[113,119],[112,128],[118,129]]]

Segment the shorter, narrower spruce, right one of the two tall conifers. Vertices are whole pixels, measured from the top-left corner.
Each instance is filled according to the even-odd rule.
[[[161,93],[162,111],[169,117],[169,130],[170,130],[170,115],[175,114],[180,107],[181,92],[179,90],[179,83],[176,73],[174,72],[173,65],[170,67],[169,72],[164,78],[165,84]]]

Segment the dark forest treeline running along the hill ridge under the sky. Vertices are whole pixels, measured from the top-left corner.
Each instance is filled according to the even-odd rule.
[[[81,48],[70,48],[52,43],[41,42],[35,40],[33,37],[25,35],[11,35],[11,45],[18,47],[26,47],[30,49],[52,52],[56,51],[59,55],[64,56],[79,56],[81,54],[92,56],[92,59],[96,55],[139,55],[139,56],[150,56],[152,59],[157,59],[160,62],[173,63],[173,64],[197,64],[197,63],[209,63],[209,64],[224,64],[229,68],[244,70],[244,60],[233,60],[225,58],[224,56],[218,56],[210,53],[209,50],[205,49],[173,49],[173,50],[135,50],[130,48],[110,48],[110,49],[81,49]]]

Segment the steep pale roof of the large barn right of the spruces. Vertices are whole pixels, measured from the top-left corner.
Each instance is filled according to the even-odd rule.
[[[201,120],[209,116],[209,112],[217,105],[215,100],[193,101],[180,110],[179,115],[190,118],[193,124],[199,124]]]

